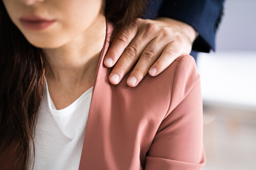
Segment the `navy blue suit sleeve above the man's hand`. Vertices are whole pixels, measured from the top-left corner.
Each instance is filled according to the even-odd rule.
[[[154,0],[144,18],[169,17],[188,23],[198,33],[193,50],[215,51],[216,31],[223,14],[224,0]]]

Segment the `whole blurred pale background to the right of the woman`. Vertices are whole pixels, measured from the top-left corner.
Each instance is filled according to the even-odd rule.
[[[203,170],[256,169],[256,1],[226,0],[217,52],[198,56]]]

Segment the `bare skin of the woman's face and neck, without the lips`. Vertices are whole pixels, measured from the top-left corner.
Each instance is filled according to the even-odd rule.
[[[3,0],[8,14],[26,39],[46,53],[47,79],[56,109],[72,104],[94,84],[105,39],[102,0]],[[20,24],[24,15],[56,19],[44,30]]]

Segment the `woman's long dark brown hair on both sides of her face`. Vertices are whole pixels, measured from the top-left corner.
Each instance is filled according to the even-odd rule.
[[[106,20],[115,26],[112,37],[141,17],[145,7],[146,0],[106,0]],[[0,169],[26,169],[32,158],[45,63],[42,50],[26,40],[0,1]]]

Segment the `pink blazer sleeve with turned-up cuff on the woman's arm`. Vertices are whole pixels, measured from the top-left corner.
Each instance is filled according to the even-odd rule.
[[[201,169],[203,148],[200,76],[191,56],[181,57],[170,105],[147,152],[145,169]]]

